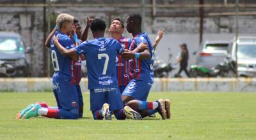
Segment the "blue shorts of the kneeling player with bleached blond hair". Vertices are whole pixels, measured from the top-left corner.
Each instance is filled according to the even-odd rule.
[[[60,109],[70,110],[79,108],[79,100],[76,85],[72,85],[71,81],[52,79],[52,90],[57,96],[56,100]]]

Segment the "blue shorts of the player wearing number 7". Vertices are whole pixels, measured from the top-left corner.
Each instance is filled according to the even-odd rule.
[[[109,104],[109,110],[124,108],[119,88],[97,88],[90,90],[91,111],[102,109],[104,103]]]

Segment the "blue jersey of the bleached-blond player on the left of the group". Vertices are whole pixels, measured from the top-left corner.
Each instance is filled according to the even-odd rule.
[[[74,47],[72,40],[67,34],[63,34],[62,32],[59,32],[59,34],[59,43],[63,47],[67,49]],[[54,69],[54,74],[52,78],[71,80],[72,84],[76,83],[76,78],[74,78],[74,62],[72,62],[72,59],[70,59],[70,57],[65,57],[60,53],[58,48],[56,48],[56,46],[54,45],[53,40],[51,40],[51,59]]]

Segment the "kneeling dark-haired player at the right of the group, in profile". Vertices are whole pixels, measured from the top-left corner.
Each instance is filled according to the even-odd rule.
[[[122,101],[135,111],[140,111],[142,117],[152,115],[157,111],[163,119],[170,118],[170,100],[159,99],[156,102],[146,102],[150,88],[154,82],[154,48],[146,33],[141,32],[141,16],[131,14],[127,18],[127,31],[134,36],[129,52],[123,57],[129,60],[131,82],[122,94]],[[148,46],[147,50],[134,53],[141,43]]]

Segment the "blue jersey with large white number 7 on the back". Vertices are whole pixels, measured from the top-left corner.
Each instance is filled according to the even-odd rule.
[[[88,69],[88,89],[118,87],[116,79],[116,53],[124,48],[111,38],[85,41],[75,48],[78,55],[84,54]]]

